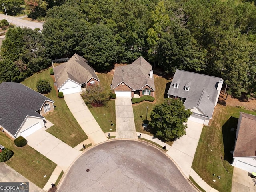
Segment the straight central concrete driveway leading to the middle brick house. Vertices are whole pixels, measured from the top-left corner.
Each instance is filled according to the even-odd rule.
[[[117,97],[116,103],[116,138],[138,139],[134,123],[130,97]]]

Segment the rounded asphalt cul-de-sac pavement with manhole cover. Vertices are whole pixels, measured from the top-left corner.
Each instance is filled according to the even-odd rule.
[[[89,169],[87,172],[86,170]],[[105,142],[85,152],[67,173],[61,192],[194,192],[160,150],[132,140]]]

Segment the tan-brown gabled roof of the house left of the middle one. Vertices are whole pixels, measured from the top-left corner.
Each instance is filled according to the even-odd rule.
[[[100,81],[86,59],[74,54],[66,63],[53,68],[54,76],[59,89],[68,79],[78,84],[87,83],[91,78]]]

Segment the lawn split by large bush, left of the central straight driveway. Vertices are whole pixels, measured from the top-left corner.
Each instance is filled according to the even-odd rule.
[[[100,79],[100,86],[102,86],[104,90],[110,92],[110,84],[112,83],[113,76],[107,73],[100,73],[97,74],[97,76]],[[116,131],[115,100],[108,101],[107,106],[90,107],[89,110],[103,132]],[[114,126],[111,126],[111,122]]]

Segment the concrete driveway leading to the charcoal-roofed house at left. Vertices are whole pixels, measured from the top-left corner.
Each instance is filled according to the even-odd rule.
[[[82,151],[70,147],[45,130],[42,128],[26,137],[28,145],[52,160],[65,172]]]

